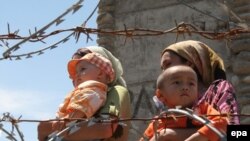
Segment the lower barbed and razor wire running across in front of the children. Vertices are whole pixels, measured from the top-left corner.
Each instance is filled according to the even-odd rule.
[[[181,115],[180,115],[181,114]],[[164,119],[173,119],[175,121],[178,120],[178,118],[182,117],[189,117],[191,119],[197,120],[201,124],[204,124],[205,126],[208,126],[212,131],[214,131],[221,140],[226,139],[225,133],[222,133],[221,131],[217,130],[212,124],[211,121],[208,119],[208,117],[212,116],[220,116],[220,117],[250,117],[249,114],[228,114],[228,113],[220,113],[220,114],[214,114],[214,115],[196,115],[194,114],[193,110],[191,109],[179,109],[179,108],[172,108],[164,110],[159,114],[157,117],[153,118],[62,118],[62,119],[49,119],[49,120],[34,120],[34,119],[22,119],[21,116],[19,118],[14,118],[10,113],[3,113],[3,115],[0,117],[0,130],[3,131],[5,134],[7,134],[7,139],[18,141],[17,137],[24,141],[24,135],[19,129],[18,124],[23,122],[29,122],[29,123],[40,123],[40,122],[52,122],[52,121],[64,121],[68,124],[66,127],[61,131],[55,131],[52,134],[49,135],[50,141],[56,140],[61,141],[63,139],[63,133],[68,132],[68,135],[71,135],[75,132],[77,132],[81,125],[83,123],[87,123],[88,126],[92,126],[97,123],[111,123],[111,124],[119,124],[122,126],[127,126],[124,122],[126,121],[157,121],[157,120],[164,120]],[[11,124],[12,128],[11,131],[8,131],[3,128],[2,122],[8,122]],[[18,133],[18,135],[15,134],[15,132]],[[155,131],[157,133],[157,131]],[[141,135],[143,137],[143,135]],[[157,136],[157,134],[156,134]],[[146,138],[145,138],[146,139]]]

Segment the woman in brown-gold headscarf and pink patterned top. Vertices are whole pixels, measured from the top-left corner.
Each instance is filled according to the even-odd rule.
[[[206,101],[221,113],[238,114],[234,88],[226,80],[222,59],[206,44],[182,41],[166,47],[161,55],[161,69],[174,65],[191,66],[199,77],[199,103]],[[229,124],[239,124],[239,117],[231,116]],[[167,129],[159,140],[193,140],[197,129]]]

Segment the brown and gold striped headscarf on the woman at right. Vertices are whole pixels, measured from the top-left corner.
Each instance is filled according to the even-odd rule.
[[[215,77],[215,69],[225,71],[223,60],[206,44],[199,41],[182,41],[166,47],[166,51],[173,51],[192,63],[202,77],[205,85],[210,85]]]

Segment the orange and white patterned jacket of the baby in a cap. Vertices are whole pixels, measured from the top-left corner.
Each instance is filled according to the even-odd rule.
[[[107,85],[98,81],[85,81],[72,91],[61,104],[57,117],[92,117],[106,101]]]

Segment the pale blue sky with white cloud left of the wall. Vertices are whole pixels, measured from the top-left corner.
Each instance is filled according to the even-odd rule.
[[[19,29],[18,34],[27,36],[29,30],[42,28],[65,12],[78,0],[1,0],[0,1],[0,35]],[[80,26],[97,5],[98,0],[85,0],[83,7],[75,14],[69,13],[59,26],[51,26],[47,32]],[[97,12],[87,23],[87,27],[96,28]],[[69,33],[68,33],[69,34]],[[21,49],[13,54],[27,53],[47,47],[67,34],[53,36],[43,43],[24,43]],[[50,119],[55,117],[58,105],[69,91],[73,89],[67,73],[67,62],[80,47],[96,45],[93,41],[86,43],[81,36],[78,43],[73,37],[65,44],[44,54],[34,55],[29,59],[0,61],[0,117],[9,112],[13,117],[22,119]],[[10,46],[18,41],[9,41]],[[0,55],[6,50],[0,46]],[[0,56],[2,57],[2,56]],[[8,123],[4,128],[10,131]],[[37,140],[36,123],[20,123],[25,141]],[[6,134],[0,131],[0,140],[7,141]],[[18,137],[17,137],[18,138]]]

